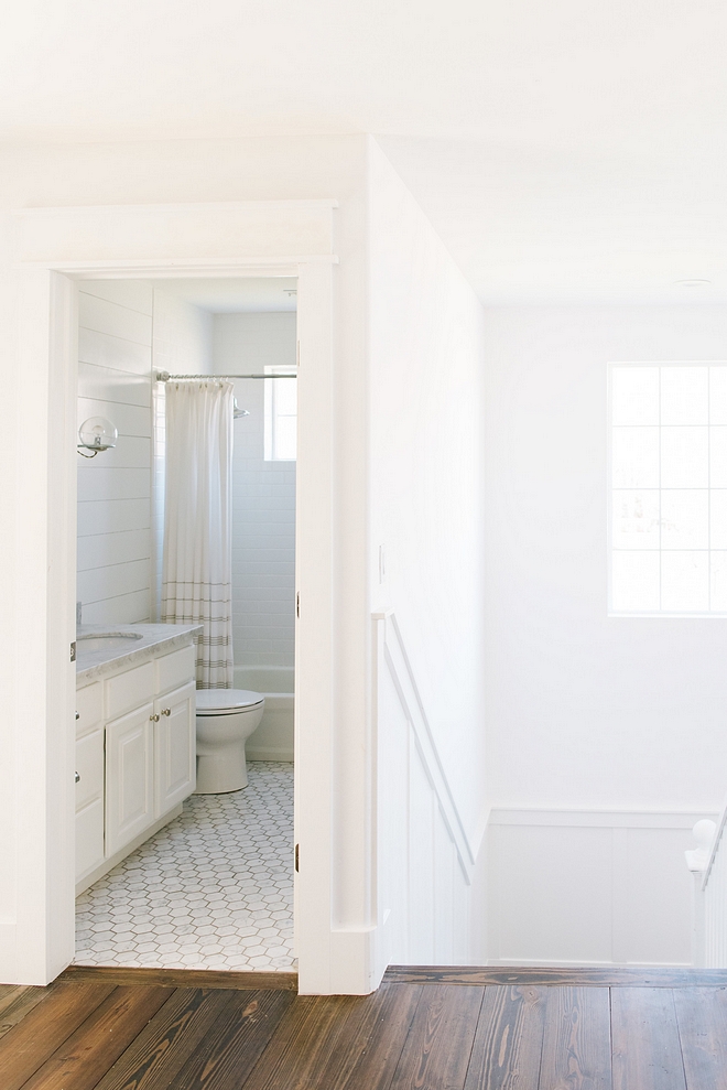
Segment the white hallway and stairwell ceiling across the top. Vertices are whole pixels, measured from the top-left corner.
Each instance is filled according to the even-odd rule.
[[[726,46],[724,0],[24,0],[0,136],[373,132],[486,300],[717,299]]]

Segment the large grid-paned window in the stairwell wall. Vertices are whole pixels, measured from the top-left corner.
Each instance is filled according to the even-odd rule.
[[[727,361],[610,366],[610,613],[727,616]]]

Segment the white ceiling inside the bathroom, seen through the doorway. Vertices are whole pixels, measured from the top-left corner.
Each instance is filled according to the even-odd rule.
[[[152,280],[171,295],[194,303],[213,314],[246,314],[259,311],[294,311],[295,277],[246,277],[229,280]]]

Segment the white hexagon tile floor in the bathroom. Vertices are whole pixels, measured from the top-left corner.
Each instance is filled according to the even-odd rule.
[[[76,964],[291,970],[293,765],[248,764],[76,900]]]

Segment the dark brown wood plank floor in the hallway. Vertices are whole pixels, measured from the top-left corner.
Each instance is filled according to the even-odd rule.
[[[727,973],[70,969],[0,985],[0,1090],[727,1090]]]

